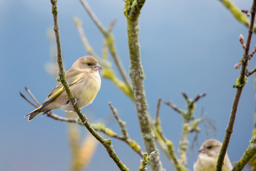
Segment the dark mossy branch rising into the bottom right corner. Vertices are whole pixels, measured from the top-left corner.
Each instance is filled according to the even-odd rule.
[[[247,164],[247,162],[249,162],[249,160],[256,154],[256,135],[254,135],[251,138],[250,144],[247,148],[247,150],[245,151],[245,153],[243,153],[243,156],[241,157],[241,159],[235,163],[235,166],[232,168],[232,171],[241,171],[243,170],[244,166]]]

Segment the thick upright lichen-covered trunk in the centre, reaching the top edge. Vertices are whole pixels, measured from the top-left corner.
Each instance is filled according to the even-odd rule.
[[[137,116],[141,128],[141,136],[143,138],[146,152],[150,154],[152,151],[157,151],[154,142],[154,134],[150,127],[150,116],[148,114],[146,96],[144,91],[143,80],[145,75],[141,65],[140,46],[139,46],[139,14],[145,0],[125,1],[123,13],[127,21],[127,37],[130,56],[129,75],[132,80],[133,94],[137,109]],[[155,156],[150,162],[152,171],[163,170],[160,157]]]

